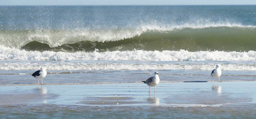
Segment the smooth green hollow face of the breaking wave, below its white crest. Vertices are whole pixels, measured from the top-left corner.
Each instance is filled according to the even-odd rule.
[[[48,44],[32,41],[22,49],[32,51],[256,51],[256,28],[209,27],[204,29],[181,29],[176,31],[147,31],[139,36],[118,41],[84,41],[62,44],[51,48]]]

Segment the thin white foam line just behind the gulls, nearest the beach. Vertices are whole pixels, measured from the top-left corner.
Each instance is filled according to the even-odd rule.
[[[48,70],[212,70],[215,64],[147,64],[147,63],[1,63],[0,70],[38,70],[46,66]],[[254,70],[256,65],[221,65],[221,70]]]

